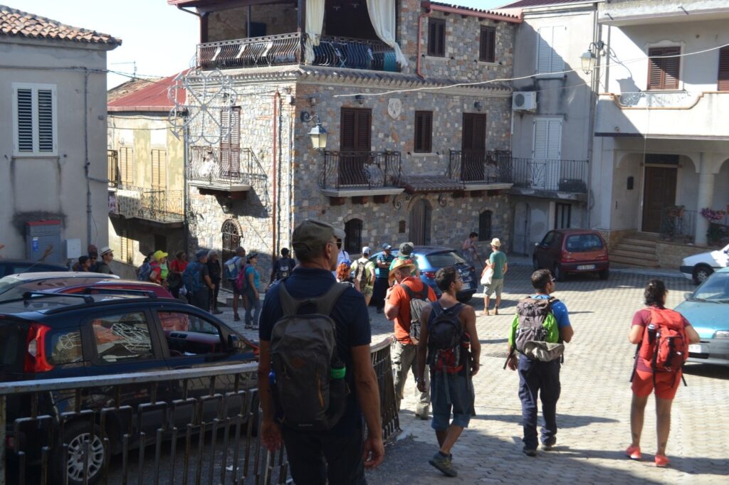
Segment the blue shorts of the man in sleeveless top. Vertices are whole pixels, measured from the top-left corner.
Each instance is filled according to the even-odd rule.
[[[448,392],[446,393],[446,384]],[[433,406],[431,426],[436,431],[445,431],[448,425],[468,427],[472,416],[475,416],[473,384],[470,377],[440,372],[432,373],[430,378],[430,403]],[[451,411],[453,421],[451,422]]]

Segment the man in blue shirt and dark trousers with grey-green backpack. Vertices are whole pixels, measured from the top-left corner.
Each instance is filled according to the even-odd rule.
[[[516,306],[516,315],[508,335],[509,353],[504,368],[519,371],[519,398],[524,436],[522,452],[537,456],[537,395],[542,401],[542,449],[550,451],[557,443],[557,401],[561,390],[559,371],[564,344],[572,340],[567,307],[550,296],[555,279],[549,269],[531,274],[536,294]],[[517,358],[516,352],[519,356]]]

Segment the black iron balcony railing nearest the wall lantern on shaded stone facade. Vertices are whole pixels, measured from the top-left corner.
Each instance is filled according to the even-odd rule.
[[[397,187],[399,151],[324,151],[321,189],[382,189]]]

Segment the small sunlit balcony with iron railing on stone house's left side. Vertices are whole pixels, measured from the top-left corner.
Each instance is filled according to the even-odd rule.
[[[245,194],[252,189],[254,164],[255,156],[248,148],[191,146],[185,177],[200,194]]]

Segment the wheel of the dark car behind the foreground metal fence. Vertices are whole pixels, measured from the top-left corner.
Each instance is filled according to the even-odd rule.
[[[103,475],[106,452],[104,441],[98,434],[98,426],[94,427],[93,438],[89,443],[88,481],[89,485],[98,484]],[[58,443],[52,456],[52,483],[63,484],[63,477],[69,476],[69,485],[82,485],[84,483],[83,463],[84,446],[89,441],[91,425],[86,421],[76,421],[67,424],[63,429],[61,443]],[[63,460],[62,443],[69,445],[68,460]]]

